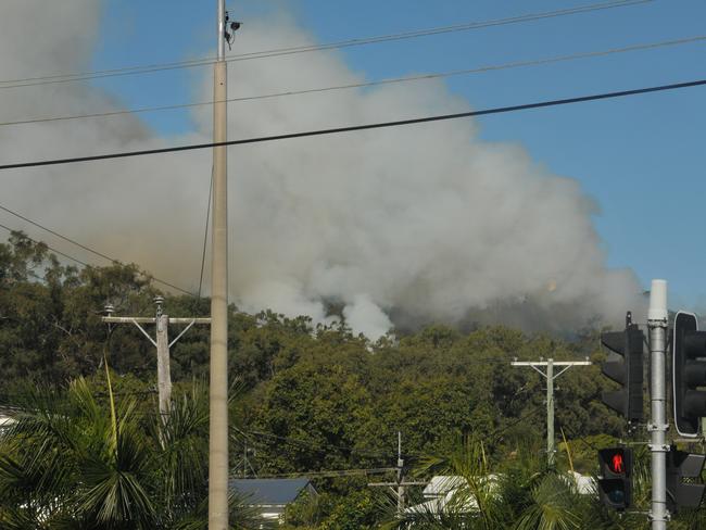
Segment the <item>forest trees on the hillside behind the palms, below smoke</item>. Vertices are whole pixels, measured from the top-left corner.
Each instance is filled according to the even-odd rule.
[[[106,403],[108,365],[115,400],[137,396],[137,409],[153,414],[153,345],[134,326],[109,329],[101,316],[106,304],[118,316],[152,316],[156,294],[171,316],[209,314],[207,299],[160,292],[134,265],[66,266],[45,245],[13,234],[0,244],[0,408],[11,409],[27,382],[61,393],[79,377]],[[393,467],[398,432],[409,472],[470,442],[491,463],[528,453],[542,462],[545,381],[510,362],[600,362],[597,338],[598,330],[567,342],[501,326],[461,332],[433,325],[370,342],[344,321],[320,326],[231,306],[231,468],[273,476]],[[172,349],[175,400],[207,383],[207,374],[209,329],[194,326]],[[593,472],[596,446],[621,436],[622,421],[600,401],[605,382],[595,364],[572,368],[556,383],[559,466],[570,456],[577,470]],[[562,437],[567,443],[558,443]],[[323,526],[311,528],[345,528],[343,519],[325,521],[349,512],[357,521],[350,528],[374,528],[379,503],[366,482],[364,475],[318,479]]]

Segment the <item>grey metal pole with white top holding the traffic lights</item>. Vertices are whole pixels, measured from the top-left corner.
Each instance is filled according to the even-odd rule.
[[[665,443],[666,381],[665,351],[667,348],[667,281],[652,280],[647,328],[650,330],[650,356],[652,362],[652,393],[650,396],[652,419],[647,429],[652,432],[652,506],[650,519],[652,530],[666,530],[669,520],[667,510],[667,452]]]

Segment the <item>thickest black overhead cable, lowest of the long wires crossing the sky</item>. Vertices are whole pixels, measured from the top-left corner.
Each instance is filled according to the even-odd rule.
[[[330,129],[315,129],[315,130],[307,130],[307,131],[302,131],[302,132],[289,132],[289,134],[283,134],[283,135],[274,135],[274,136],[262,136],[262,137],[254,137],[254,138],[244,138],[241,140],[229,140],[229,141],[224,141],[224,142],[207,142],[207,143],[192,143],[188,146],[178,146],[178,147],[172,147],[172,148],[161,148],[161,149],[146,149],[141,151],[127,151],[127,152],[122,152],[122,153],[108,153],[108,154],[96,154],[96,155],[89,155],[89,156],[74,156],[74,157],[68,157],[68,159],[50,159],[50,160],[43,160],[43,161],[35,161],[35,162],[20,162],[15,164],[3,164],[0,165],[0,169],[17,169],[17,168],[23,168],[23,167],[38,167],[38,166],[49,166],[49,165],[59,165],[59,164],[74,164],[78,162],[94,162],[94,161],[100,161],[100,160],[111,160],[111,159],[124,159],[124,157],[130,157],[130,156],[144,156],[148,154],[162,154],[162,153],[174,153],[174,152],[179,152],[179,151],[193,151],[198,149],[212,149],[216,147],[224,147],[224,146],[243,146],[247,143],[261,143],[261,142],[266,142],[266,141],[276,141],[276,140],[290,140],[294,138],[304,138],[304,137],[312,137],[312,136],[325,136],[325,135],[336,135],[336,134],[341,134],[341,132],[353,132],[357,130],[370,130],[370,129],[379,129],[379,128],[387,128],[387,127],[400,127],[403,125],[417,125],[417,124],[425,124],[425,123],[432,123],[432,122],[442,122],[442,121],[447,121],[447,119],[458,119],[458,118],[464,118],[464,117],[472,117],[472,116],[486,116],[490,114],[502,114],[502,113],[509,113],[509,112],[517,112],[517,111],[526,111],[530,109],[542,109],[546,106],[558,106],[558,105],[566,105],[566,104],[572,104],[572,103],[583,103],[587,101],[597,101],[597,100],[605,100],[605,99],[614,99],[614,98],[623,98],[628,96],[638,96],[638,94],[643,94],[643,93],[651,93],[651,92],[660,92],[665,90],[677,90],[681,88],[690,88],[690,87],[697,87],[706,85],[706,79],[698,79],[698,80],[693,80],[693,81],[686,81],[686,83],[676,83],[671,85],[660,85],[656,87],[647,87],[647,88],[639,88],[639,89],[633,89],[633,90],[621,90],[617,92],[603,92],[603,93],[596,93],[596,94],[591,94],[591,96],[580,96],[576,98],[566,98],[566,99],[557,99],[557,100],[549,100],[549,101],[540,101],[540,102],[534,102],[534,103],[525,103],[525,104],[519,104],[519,105],[510,105],[510,106],[500,106],[500,108],[492,108],[492,109],[486,109],[481,111],[469,111],[469,112],[459,112],[455,114],[441,114],[441,115],[434,115],[434,116],[426,116],[426,117],[418,117],[418,118],[411,118],[411,119],[399,119],[394,122],[377,122],[377,123],[371,123],[371,124],[364,124],[364,125],[353,125],[353,126],[346,126],[346,127],[336,127],[336,128],[330,128]]]

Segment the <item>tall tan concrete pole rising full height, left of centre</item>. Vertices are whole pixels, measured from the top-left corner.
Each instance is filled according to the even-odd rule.
[[[218,2],[213,83],[213,141],[227,134],[225,0]],[[227,148],[213,149],[213,240],[211,276],[211,384],[209,432],[209,530],[228,530],[228,188]]]

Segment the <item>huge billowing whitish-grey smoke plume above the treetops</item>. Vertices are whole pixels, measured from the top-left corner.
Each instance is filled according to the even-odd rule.
[[[2,77],[88,68],[97,4],[5,0]],[[23,29],[40,5],[51,12],[47,27]],[[248,21],[236,49],[307,42],[315,40],[280,17]],[[237,61],[229,97],[364,79],[330,51]],[[211,84],[206,68],[196,97],[211,99]],[[0,89],[2,121],[111,108],[119,103],[85,85]],[[232,103],[229,136],[468,109],[442,83],[317,92]],[[210,113],[194,112],[194,132],[168,143],[209,141]],[[163,144],[139,116],[0,127],[7,162]],[[210,176],[209,151],[5,172],[0,204],[193,289]],[[326,321],[330,307],[342,307],[355,331],[376,338],[392,323],[570,329],[643,310],[632,273],[606,268],[594,206],[577,181],[550,174],[519,146],[480,141],[471,119],[234,147],[229,195],[230,295],[249,311]]]

